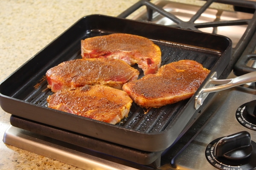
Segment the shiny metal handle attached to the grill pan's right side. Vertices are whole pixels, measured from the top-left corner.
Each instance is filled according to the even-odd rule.
[[[217,79],[217,72],[213,72],[203,88],[195,96],[195,109],[198,109],[203,104],[204,99],[206,99],[208,94],[211,92],[225,90],[250,82],[256,82],[256,71],[244,74],[233,79]]]

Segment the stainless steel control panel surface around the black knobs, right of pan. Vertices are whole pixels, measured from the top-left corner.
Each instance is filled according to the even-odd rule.
[[[241,131],[247,131],[251,135],[251,140],[256,142],[256,129],[250,130],[242,126],[236,119],[237,109],[247,102],[256,100],[256,91],[244,87],[231,88],[215,94],[214,99],[204,113],[212,113],[207,125],[192,140],[192,142],[173,160],[173,167],[177,169],[193,169],[193,170],[213,170],[213,167],[207,161],[205,152],[208,145],[215,139],[223,136],[229,136]],[[249,126],[255,126],[250,125]],[[208,158],[211,159],[211,158]],[[255,159],[255,158],[254,158]],[[246,170],[246,168],[233,166],[225,162],[214,160],[214,164],[218,164],[221,168],[232,168],[232,170]],[[256,168],[256,167],[254,167]],[[231,170],[231,169],[230,169]]]

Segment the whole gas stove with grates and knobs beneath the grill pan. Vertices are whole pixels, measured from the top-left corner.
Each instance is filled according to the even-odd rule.
[[[118,17],[126,18],[141,6],[146,6],[147,10],[133,17],[133,20],[227,36],[233,41],[233,51],[222,77],[233,78],[255,71],[256,14],[252,9],[256,8],[256,4],[240,0],[217,2],[234,5],[240,11],[211,8],[209,6],[213,1],[194,6],[170,1],[152,4],[148,0],[140,0]],[[253,101],[256,101],[254,83],[216,92],[211,99],[207,99],[196,122],[184,130],[174,144],[161,152],[124,147],[17,116],[11,116],[12,125],[6,130],[3,141],[84,169],[255,169],[256,164],[251,161],[256,159],[256,118],[253,117],[256,108]],[[26,126],[20,127],[21,122]],[[63,135],[69,138],[65,142],[60,140]],[[54,139],[51,136],[55,136]],[[236,151],[236,141],[239,140],[243,141],[239,148],[242,145],[242,148],[250,150],[252,146],[254,150],[248,154],[243,150],[242,153],[240,150],[234,152],[235,155],[241,153],[240,156],[215,155],[225,150],[222,148]],[[91,146],[83,147],[79,142],[87,142]],[[221,143],[227,145],[223,147]],[[105,150],[105,147],[113,150]],[[123,153],[129,158],[122,156]]]

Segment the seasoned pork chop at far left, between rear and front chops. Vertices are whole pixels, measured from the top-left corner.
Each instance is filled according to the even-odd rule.
[[[50,68],[47,73],[48,88],[52,92],[84,85],[108,85],[122,89],[126,82],[136,80],[139,71],[119,59],[74,59]]]

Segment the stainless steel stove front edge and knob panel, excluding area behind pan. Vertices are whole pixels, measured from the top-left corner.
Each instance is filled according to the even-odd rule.
[[[207,145],[214,139],[246,130],[251,134],[251,139],[256,141],[256,130],[247,129],[236,120],[237,109],[246,102],[256,100],[256,90],[253,88],[239,86],[215,93],[197,123],[179,142],[162,153],[158,160],[160,167],[157,169],[215,170],[216,168],[207,162],[205,156]],[[142,170],[154,167],[154,164],[145,166],[95,153],[13,126],[6,130],[4,142],[84,169],[95,166],[106,170]]]

